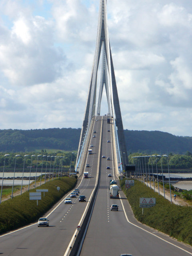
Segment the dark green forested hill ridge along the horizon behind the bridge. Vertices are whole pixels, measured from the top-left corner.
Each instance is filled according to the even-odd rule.
[[[174,136],[168,132],[124,130],[128,152],[162,154],[192,152],[192,137]],[[49,128],[35,130],[0,130],[0,151],[34,149],[78,150],[81,129]]]

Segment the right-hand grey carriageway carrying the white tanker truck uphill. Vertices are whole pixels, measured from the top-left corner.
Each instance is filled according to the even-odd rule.
[[[108,127],[109,124],[104,121],[102,154],[112,159],[112,143],[107,143],[107,140],[112,141],[110,132],[107,132]],[[119,256],[121,253],[130,253],[133,256],[192,255],[190,246],[137,222],[122,191],[120,191],[122,199],[109,198],[111,178],[107,175],[110,172],[115,177],[115,174],[113,170],[106,170],[106,166],[113,164],[112,160],[108,161],[106,158],[102,158],[101,161],[100,188],[80,255]],[[110,211],[112,204],[118,204],[118,212]]]

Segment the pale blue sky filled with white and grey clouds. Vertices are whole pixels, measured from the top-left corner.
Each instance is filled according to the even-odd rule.
[[[0,129],[82,127],[98,10],[0,1]],[[107,12],[124,129],[192,136],[191,1],[108,0]]]

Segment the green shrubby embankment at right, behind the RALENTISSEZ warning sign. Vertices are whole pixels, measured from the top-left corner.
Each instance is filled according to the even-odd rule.
[[[121,182],[124,191],[135,217],[156,230],[164,232],[179,241],[192,245],[192,208],[189,206],[179,206],[171,204],[163,196],[159,196],[154,190],[135,180],[135,185],[126,190],[125,179]],[[155,197],[156,206],[142,208],[139,205],[140,197]]]

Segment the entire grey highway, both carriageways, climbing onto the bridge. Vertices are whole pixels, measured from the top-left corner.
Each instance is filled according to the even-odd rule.
[[[192,255],[192,248],[186,246],[157,230],[136,221],[128,201],[122,191],[120,199],[109,198],[109,181],[118,180],[114,170],[114,152],[112,150],[112,124],[107,123],[106,116],[97,116],[94,121],[84,161],[84,169],[89,178],[78,180],[81,194],[86,202],[72,199],[73,204],[64,204],[64,198],[45,215],[50,220],[49,227],[38,228],[31,224],[15,232],[0,236],[0,254],[4,256],[66,256],[76,227],[81,219],[96,186],[98,166],[100,163],[100,186],[96,197],[90,224],[82,246],[81,256],[119,256],[131,253],[133,256],[187,256]],[[96,134],[93,131],[96,130]],[[108,132],[108,130],[110,130]],[[96,138],[93,138],[96,135]],[[101,158],[99,154],[100,140]],[[110,142],[107,142],[110,140]],[[90,147],[93,144],[93,147]],[[88,154],[91,148],[93,154]],[[85,167],[90,164],[90,167]],[[110,170],[106,169],[110,166]],[[112,174],[112,178],[108,177]],[[138,200],[138,198],[136,198]],[[119,210],[110,211],[112,204],[118,204]]]

